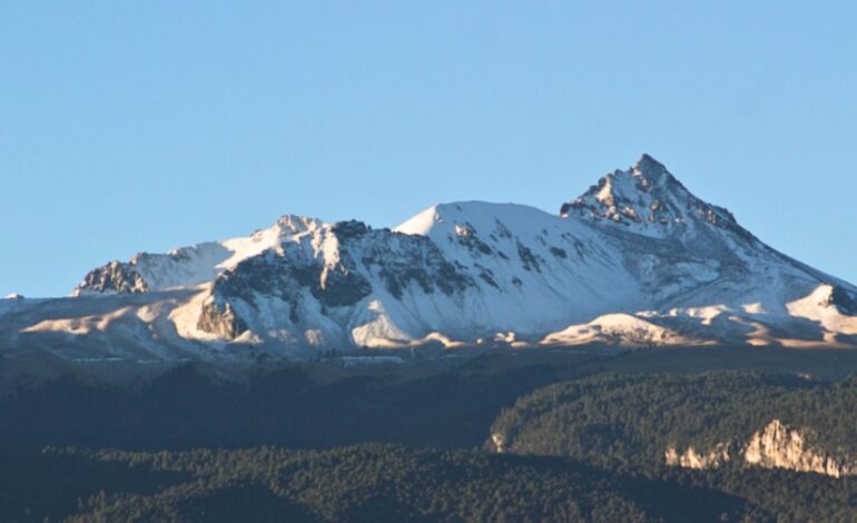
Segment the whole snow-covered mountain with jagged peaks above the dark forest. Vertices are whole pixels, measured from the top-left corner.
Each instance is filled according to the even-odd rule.
[[[395,229],[284,216],[0,302],[0,349],[61,358],[359,348],[857,345],[857,288],[765,245],[643,155],[556,215],[430,207]]]

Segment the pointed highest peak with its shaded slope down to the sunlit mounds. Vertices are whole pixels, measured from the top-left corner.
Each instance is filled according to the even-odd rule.
[[[601,178],[560,215],[621,237],[625,267],[656,303],[681,303],[690,287],[713,282],[718,293],[748,288],[753,273],[774,284],[760,266],[782,264],[731,213],[697,198],[648,155]]]

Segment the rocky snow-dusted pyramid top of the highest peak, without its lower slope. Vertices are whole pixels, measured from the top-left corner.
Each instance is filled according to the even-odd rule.
[[[560,215],[615,224],[647,236],[673,236],[701,224],[738,227],[731,213],[693,196],[649,155],[628,170],[601,178],[582,196],[563,204]]]

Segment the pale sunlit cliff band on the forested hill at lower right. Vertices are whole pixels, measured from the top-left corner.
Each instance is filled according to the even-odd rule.
[[[742,445],[719,443],[707,452],[688,447],[683,453],[670,447],[664,457],[668,465],[688,468],[716,468],[735,457],[749,466],[815,472],[834,477],[857,475],[857,460],[814,447],[808,443],[811,438],[810,428],[791,428],[774,420]]]

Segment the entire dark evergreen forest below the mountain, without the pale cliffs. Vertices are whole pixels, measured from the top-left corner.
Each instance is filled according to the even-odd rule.
[[[188,367],[138,391],[68,378],[20,389],[0,403],[0,521],[854,520],[854,478],[737,461],[681,470],[664,452],[741,442],[777,418],[857,455],[855,378],[558,383],[558,367],[485,368],[319,385]],[[494,433],[506,454],[480,450]],[[366,442],[380,443],[353,446]]]

